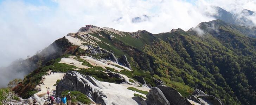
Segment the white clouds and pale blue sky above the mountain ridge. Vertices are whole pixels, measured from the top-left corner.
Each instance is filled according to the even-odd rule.
[[[216,13],[212,5],[232,13],[242,9],[256,11],[256,1],[252,0],[0,1],[0,66],[32,56],[87,24],[130,32],[147,30],[154,34],[173,28],[188,30],[200,22],[214,20],[204,14]],[[150,19],[132,22],[143,15]]]

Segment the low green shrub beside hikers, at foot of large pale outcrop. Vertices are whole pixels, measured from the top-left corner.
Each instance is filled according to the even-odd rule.
[[[70,96],[71,96],[71,102],[74,104],[77,104],[77,102],[81,102],[83,104],[87,104],[89,105],[91,103],[91,100],[85,96],[85,94],[78,92],[78,91],[64,91],[62,92],[62,95],[68,95],[68,92],[70,92]]]

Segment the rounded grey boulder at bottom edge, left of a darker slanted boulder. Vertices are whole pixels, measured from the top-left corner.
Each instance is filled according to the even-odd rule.
[[[147,105],[170,105],[164,93],[158,87],[152,87],[147,94]]]

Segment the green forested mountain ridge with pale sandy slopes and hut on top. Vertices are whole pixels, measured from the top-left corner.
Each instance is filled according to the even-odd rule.
[[[13,90],[28,98],[39,92],[35,88],[49,70],[77,71],[101,84],[125,83],[145,89],[164,84],[177,89],[183,97],[200,89],[227,105],[254,105],[256,39],[248,37],[247,29],[221,20],[203,22],[188,31],[173,29],[160,34],[82,27],[77,33],[56,40],[63,42],[59,43],[62,53],[55,57],[45,55],[50,59]],[[112,73],[121,76],[117,78]]]

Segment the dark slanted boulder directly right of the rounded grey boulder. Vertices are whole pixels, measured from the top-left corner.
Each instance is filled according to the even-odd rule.
[[[186,100],[181,94],[172,87],[169,86],[157,86],[165,95],[170,105],[186,105]]]

